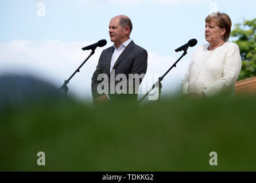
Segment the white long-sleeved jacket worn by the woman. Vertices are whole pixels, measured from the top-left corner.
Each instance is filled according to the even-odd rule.
[[[225,42],[213,51],[209,44],[200,45],[193,53],[187,73],[181,82],[183,94],[197,93],[213,96],[232,87],[241,71],[242,61],[238,45]]]

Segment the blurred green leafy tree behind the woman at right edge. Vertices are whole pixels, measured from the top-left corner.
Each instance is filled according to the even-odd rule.
[[[238,81],[256,76],[256,18],[252,21],[245,21],[243,25],[238,23],[231,31],[231,37],[240,47],[242,57],[242,69]]]

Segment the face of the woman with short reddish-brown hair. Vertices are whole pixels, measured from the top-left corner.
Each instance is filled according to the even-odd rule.
[[[205,23],[205,39],[209,43],[218,43],[224,40],[226,29],[220,29],[215,19]]]

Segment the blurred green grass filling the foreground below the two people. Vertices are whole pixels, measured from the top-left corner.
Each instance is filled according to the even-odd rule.
[[[255,171],[256,98],[1,109],[1,171]],[[45,153],[45,166],[37,153]],[[218,166],[209,165],[210,152]]]

